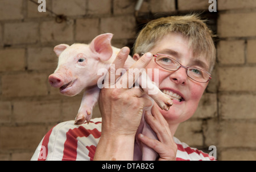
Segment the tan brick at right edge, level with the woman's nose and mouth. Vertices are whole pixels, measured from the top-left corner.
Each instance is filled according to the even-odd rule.
[[[219,91],[256,91],[255,67],[219,67]]]

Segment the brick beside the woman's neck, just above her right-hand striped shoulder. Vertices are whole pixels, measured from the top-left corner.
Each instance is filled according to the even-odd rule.
[[[175,137],[189,146],[202,146],[203,134],[201,121],[185,121],[179,125]]]

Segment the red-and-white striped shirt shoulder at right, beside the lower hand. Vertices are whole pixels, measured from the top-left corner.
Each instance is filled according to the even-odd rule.
[[[189,145],[181,142],[179,139],[174,137],[174,141],[177,144],[177,161],[210,161],[216,160],[214,157],[209,156],[209,154],[204,153],[196,148],[191,148]]]

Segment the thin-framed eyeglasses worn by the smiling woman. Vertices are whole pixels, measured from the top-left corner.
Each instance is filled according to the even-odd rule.
[[[166,70],[177,71],[180,67],[184,67],[187,69],[188,77],[192,80],[195,80],[199,83],[207,83],[211,79],[209,72],[200,68],[182,66],[179,62],[175,61],[175,59],[169,57],[168,55],[153,54],[153,56],[155,57],[155,63]]]

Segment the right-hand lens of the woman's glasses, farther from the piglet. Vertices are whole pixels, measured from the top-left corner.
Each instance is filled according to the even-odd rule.
[[[210,75],[207,72],[199,68],[188,68],[188,76],[193,80],[203,83],[207,82],[210,78]]]

